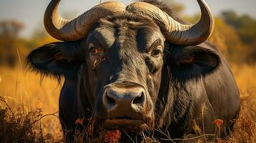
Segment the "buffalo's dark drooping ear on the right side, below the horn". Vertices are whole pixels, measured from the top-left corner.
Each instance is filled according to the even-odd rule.
[[[219,54],[207,44],[175,46],[171,48],[169,66],[174,77],[191,79],[204,76],[217,69]]]

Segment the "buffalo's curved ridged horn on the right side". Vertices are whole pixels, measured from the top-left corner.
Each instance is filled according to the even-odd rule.
[[[195,45],[206,41],[212,34],[214,18],[204,0],[197,0],[202,16],[197,24],[185,25],[171,18],[166,12],[152,4],[136,2],[126,7],[126,11],[153,19],[161,27],[166,39],[173,44]]]

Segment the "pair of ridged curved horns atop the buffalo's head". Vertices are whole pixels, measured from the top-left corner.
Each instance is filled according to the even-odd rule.
[[[166,39],[172,44],[196,45],[206,41],[212,34],[214,18],[204,0],[197,0],[202,16],[197,24],[181,24],[171,18],[166,12],[146,2],[135,2],[128,6],[118,1],[106,1],[94,6],[73,20],[62,19],[58,14],[60,0],[52,0],[44,14],[44,26],[47,32],[62,41],[76,41],[87,35],[90,28],[105,16],[131,12],[144,16],[158,24]]]

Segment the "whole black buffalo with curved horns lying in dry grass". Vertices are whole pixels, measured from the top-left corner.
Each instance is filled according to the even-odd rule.
[[[63,42],[27,59],[41,74],[65,77],[63,129],[74,131],[76,119],[87,124],[92,117],[103,129],[138,135],[157,129],[182,138],[198,135],[195,126],[214,134],[213,122],[221,119],[220,136],[227,137],[240,111],[239,92],[227,61],[207,41],[211,11],[197,2],[202,16],[190,25],[156,1],[106,1],[70,21],[57,13],[60,0],[52,0],[44,26]]]

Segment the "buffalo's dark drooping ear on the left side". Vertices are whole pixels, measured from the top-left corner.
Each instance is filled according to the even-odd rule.
[[[56,42],[34,49],[27,63],[42,74],[60,76],[70,74],[82,61],[75,42]]]

